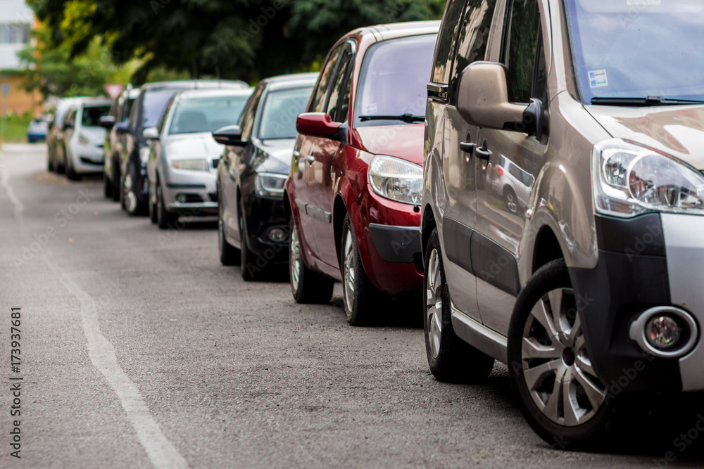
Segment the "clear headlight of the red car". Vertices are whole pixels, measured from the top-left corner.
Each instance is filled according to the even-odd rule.
[[[423,168],[401,158],[375,156],[369,165],[369,184],[384,198],[418,205],[423,195]]]

